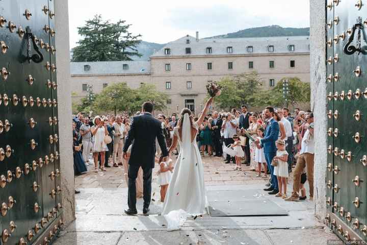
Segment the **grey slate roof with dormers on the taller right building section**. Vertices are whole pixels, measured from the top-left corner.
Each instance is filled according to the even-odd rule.
[[[187,40],[190,43],[187,44]],[[309,53],[309,36],[290,37],[250,37],[250,38],[204,38],[196,40],[195,37],[185,36],[167,43],[161,50],[150,57],[170,56],[195,56],[195,55],[228,55],[227,47],[232,47],[232,55],[242,54],[269,54],[269,45],[274,46],[272,53]],[[294,45],[295,51],[290,51],[289,46]],[[249,53],[248,46],[253,47]],[[191,48],[191,54],[186,54],[186,47]],[[211,47],[212,53],[207,54],[206,48]],[[170,48],[170,55],[165,55],[165,48]]]

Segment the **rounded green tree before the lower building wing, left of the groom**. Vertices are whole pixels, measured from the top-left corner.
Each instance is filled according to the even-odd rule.
[[[97,94],[92,108],[97,112],[128,111],[135,102],[135,93],[126,83],[112,84]]]

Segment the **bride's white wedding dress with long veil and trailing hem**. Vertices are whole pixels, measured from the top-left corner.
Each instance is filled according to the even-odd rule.
[[[198,130],[199,126],[196,123],[193,126]],[[165,215],[168,223],[171,221],[171,223],[182,224],[182,220],[177,220],[182,216],[189,217],[206,213],[204,167],[196,139],[191,141],[191,125],[188,113],[183,115],[182,139],[177,127],[174,128],[174,134],[178,138],[180,152],[168,186],[162,215]],[[177,215],[178,213],[180,214]]]

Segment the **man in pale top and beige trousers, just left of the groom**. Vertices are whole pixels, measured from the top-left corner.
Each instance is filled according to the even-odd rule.
[[[112,125],[114,130],[114,152],[112,157],[112,162],[114,167],[122,165],[122,149],[124,146],[125,139],[125,126],[121,123],[121,117],[116,116],[116,121]],[[116,155],[118,154],[118,164],[116,164]]]

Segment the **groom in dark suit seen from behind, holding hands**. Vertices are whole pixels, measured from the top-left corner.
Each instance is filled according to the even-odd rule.
[[[136,209],[136,185],[135,180],[138,177],[139,167],[143,169],[143,196],[144,206],[143,214],[149,212],[152,168],[154,168],[155,156],[155,138],[162,149],[164,161],[168,156],[166,140],[162,131],[162,123],[152,116],[153,104],[145,102],[143,104],[143,114],[135,116],[125,140],[123,149],[123,158],[126,159],[126,152],[130,144],[133,143],[130,160],[128,162],[128,209],[125,209],[127,215],[138,213]]]

